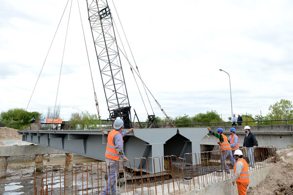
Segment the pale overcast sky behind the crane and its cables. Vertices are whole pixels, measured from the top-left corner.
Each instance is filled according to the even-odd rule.
[[[45,114],[56,103],[63,120],[76,112],[97,114],[86,42],[100,115],[108,118],[86,1],[78,1],[85,41],[77,0],[68,22],[70,2],[65,9],[67,0],[0,1],[0,112],[27,107]],[[219,69],[230,75],[236,115],[264,116],[281,98],[293,101],[293,1],[114,0],[118,16],[113,1],[108,4],[117,33],[123,37],[119,16],[141,77],[169,117],[215,110],[228,120],[229,76]],[[125,38],[120,42],[127,47]],[[131,57],[129,49],[126,54]],[[145,109],[122,62],[131,112],[140,120],[164,117],[150,95],[152,109],[143,97]]]

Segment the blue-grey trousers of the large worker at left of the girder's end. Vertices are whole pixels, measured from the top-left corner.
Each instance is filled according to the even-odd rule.
[[[118,161],[110,160],[106,158],[106,166],[107,166],[107,176],[108,176],[107,185],[104,187],[100,195],[107,195],[107,191],[108,191],[108,195],[116,195],[116,179],[119,174]]]

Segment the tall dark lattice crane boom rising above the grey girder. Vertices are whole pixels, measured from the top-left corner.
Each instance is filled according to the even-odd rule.
[[[88,20],[97,54],[111,120],[120,117],[126,129],[132,127],[131,106],[119,55],[111,11],[107,0],[87,0]]]

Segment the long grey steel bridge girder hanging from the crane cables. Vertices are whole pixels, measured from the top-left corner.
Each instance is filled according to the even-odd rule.
[[[23,141],[105,160],[107,136],[101,130],[20,131],[19,134]],[[145,160],[135,159],[135,170],[142,167],[143,171],[149,169],[149,173],[159,172],[159,158],[162,167],[162,156],[184,158],[186,153],[200,152],[200,142],[206,134],[206,128],[135,129],[124,137],[124,151],[132,169],[133,160],[142,158]],[[151,157],[159,158],[153,163]],[[190,162],[190,159],[186,160]]]

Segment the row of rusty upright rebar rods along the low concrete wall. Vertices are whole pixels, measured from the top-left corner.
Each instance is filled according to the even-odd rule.
[[[243,158],[254,162],[254,166],[249,166],[249,172],[257,171],[266,167],[273,166],[277,161],[276,150],[272,146],[253,148],[241,148]],[[110,161],[115,165],[116,177],[111,177],[105,162],[91,164],[72,165],[72,170],[67,174],[64,166],[59,168],[47,167],[45,179],[38,177],[41,182],[40,187],[36,186],[37,179],[34,179],[34,195],[48,194],[99,194],[102,189],[107,189],[107,195],[111,194],[113,184],[117,192],[112,194],[121,195],[140,195],[156,194],[170,195],[187,193],[192,189],[202,189],[209,183],[216,183],[233,177],[234,156],[227,155],[231,151],[209,151],[188,153],[184,157],[162,156],[149,158],[135,158],[134,164],[149,161],[153,164],[160,164],[160,172],[157,174],[144,173],[142,169],[134,170],[127,168],[129,161]],[[253,157],[252,157],[253,156]],[[225,159],[226,158],[226,159]],[[229,159],[230,158],[230,159]],[[190,159],[193,159],[188,163]],[[116,163],[116,164],[115,164]],[[251,162],[250,162],[251,163]],[[129,167],[129,166],[128,166]],[[53,170],[55,173],[53,173]],[[146,169],[148,170],[148,169]],[[107,178],[112,178],[107,181]],[[108,183],[109,182],[109,183]],[[67,185],[67,186],[66,186]]]

